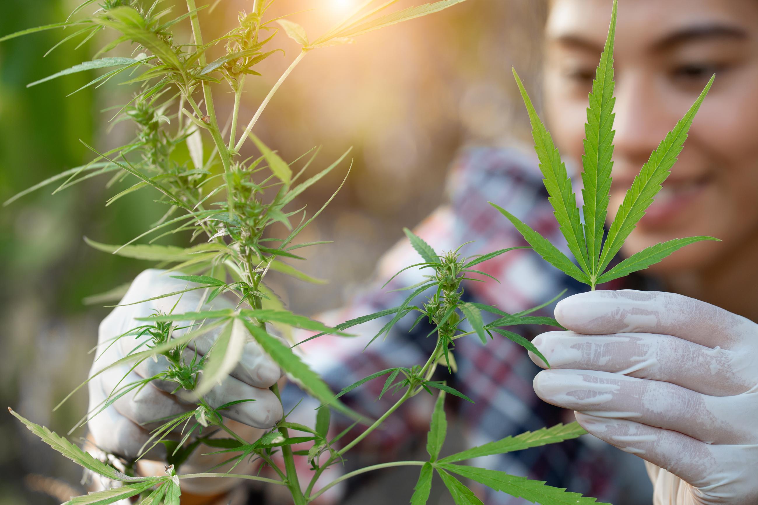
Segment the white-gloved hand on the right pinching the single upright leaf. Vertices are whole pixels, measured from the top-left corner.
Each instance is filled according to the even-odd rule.
[[[571,331],[534,338],[553,368],[534,391],[644,459],[656,505],[758,503],[756,323],[644,291],[574,295],[555,316]]]

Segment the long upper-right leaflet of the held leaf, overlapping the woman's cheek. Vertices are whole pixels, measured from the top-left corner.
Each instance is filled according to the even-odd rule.
[[[687,140],[687,132],[692,126],[695,114],[713,85],[714,77],[715,75],[708,81],[687,114],[684,114],[674,129],[666,134],[666,138],[660,142],[658,148],[650,154],[650,158],[642,166],[639,175],[634,177],[634,182],[631,183],[631,188],[626,192],[624,201],[619,207],[619,213],[616,214],[608,229],[603,254],[600,255],[598,272],[605,270],[615,254],[619,252],[626,238],[645,215],[647,207],[653,203],[653,198],[660,191],[662,182],[669,177],[671,168],[676,163],[676,157],[681,152],[684,141]]]

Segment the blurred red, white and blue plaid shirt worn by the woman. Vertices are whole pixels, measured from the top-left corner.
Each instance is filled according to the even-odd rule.
[[[541,179],[534,157],[522,151],[513,148],[473,148],[465,151],[449,177],[449,203],[435,210],[415,232],[438,254],[453,250],[468,241],[475,242],[462,249],[462,254],[466,256],[525,245],[522,236],[509,221],[487,203],[492,201],[528,223],[553,244],[563,244],[563,249],[567,250]],[[581,192],[578,192],[578,196],[581,197]],[[420,257],[409,242],[402,240],[381,259],[376,283],[365,288],[349,306],[322,314],[319,319],[334,325],[401,304],[408,291],[387,291],[415,284],[425,272],[418,269],[406,270],[387,288],[381,289],[381,285],[398,270],[419,261]],[[501,283],[492,280],[466,282],[464,298],[492,304],[509,313],[541,304],[563,289],[568,289],[565,294],[568,296],[586,288],[551,267],[530,249],[502,254],[481,263],[477,268],[495,276]],[[610,284],[612,283],[609,283],[609,288],[622,287],[621,282]],[[426,295],[429,294],[419,297],[417,303],[423,303]],[[541,315],[552,313],[553,307],[546,307]],[[356,338],[333,335],[316,338],[302,345],[305,360],[335,391],[381,369],[424,363],[434,349],[435,339],[434,336],[426,336],[431,331],[428,324],[421,323],[409,332],[415,317],[406,316],[387,338],[377,339],[365,351],[368,338],[384,326],[386,319],[374,320],[351,329],[352,333],[359,335]],[[547,329],[521,326],[515,327],[514,331],[531,339]],[[307,335],[298,335],[297,340],[305,336]],[[571,420],[565,410],[543,403],[534,394],[532,380],[540,369],[531,362],[526,351],[512,341],[497,338],[496,335],[493,341],[482,345],[474,335],[473,338],[457,340],[453,354],[458,372],[448,375],[446,369],[438,369],[435,380],[448,381],[449,385],[475,401],[471,404],[449,396],[446,404],[449,419],[456,417],[462,425],[465,447]],[[396,397],[393,398],[390,394],[385,394],[381,401],[375,401],[382,385],[384,379],[368,382],[346,395],[346,403],[375,419],[396,401]],[[302,393],[294,386],[285,388],[284,392],[285,407],[288,404],[293,406],[302,399]],[[377,430],[352,449],[350,454],[358,452],[359,458],[352,456],[351,459],[360,459],[362,465],[378,463],[390,460],[399,450],[413,444],[424,444],[431,412],[419,409],[417,400],[418,397],[407,402],[390,416],[385,422],[386,429]],[[305,401],[293,416],[299,416],[299,422],[312,422],[312,412],[308,401]],[[419,419],[425,424],[421,424]],[[346,419],[342,421],[346,422]],[[337,432],[342,426],[338,419],[335,419],[335,424],[340,425],[334,427]],[[359,429],[354,432],[358,433]],[[548,485],[568,488],[616,504],[644,503],[632,499],[623,483],[629,472],[629,460],[625,459],[629,455],[597,442],[585,435],[578,440],[561,444],[481,458],[472,464],[547,481]],[[444,451],[443,448],[443,454]],[[639,471],[641,461],[634,457],[631,460],[633,466],[637,465],[632,473],[645,479],[644,472]],[[330,470],[335,473],[345,471],[340,466],[334,466]],[[416,472],[413,474],[416,475]],[[371,478],[370,473],[366,476]],[[348,485],[355,485],[354,481],[359,479],[350,479]],[[330,475],[324,475],[320,482],[330,480]],[[644,480],[631,483],[631,487],[637,488],[647,488],[647,485]],[[531,503],[484,487],[475,486],[475,490],[487,504]],[[349,491],[350,488],[343,488],[333,494],[330,491],[324,496],[330,496],[331,499],[326,501],[334,503],[340,500],[340,495],[346,492],[349,494]],[[650,494],[647,495],[647,503],[650,503]]]

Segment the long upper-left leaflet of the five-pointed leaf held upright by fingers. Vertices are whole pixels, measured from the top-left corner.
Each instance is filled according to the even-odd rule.
[[[513,69],[513,76],[529,113],[531,136],[534,138],[534,151],[537,152],[537,158],[540,160],[540,171],[544,176],[545,189],[550,195],[547,199],[553,206],[553,214],[555,214],[560,230],[568,242],[568,250],[572,251],[582,270],[587,272],[587,246],[584,244],[584,230],[581,227],[579,209],[576,205],[576,195],[572,189],[571,179],[568,177],[565,164],[561,161],[558,149],[553,144],[553,137],[550,136],[550,132],[547,131],[537,116],[537,111],[531,104],[524,83],[518,77],[515,69]],[[531,244],[531,242],[529,243]]]

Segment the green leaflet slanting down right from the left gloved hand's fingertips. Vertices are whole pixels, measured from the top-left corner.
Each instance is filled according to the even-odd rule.
[[[336,410],[339,410],[341,413],[352,419],[361,421],[365,419],[359,413],[356,413],[341,401],[337,400],[326,382],[324,382],[310,366],[294,354],[292,349],[290,349],[290,346],[283,344],[278,338],[269,335],[265,329],[256,326],[249,320],[243,319],[242,322],[247,329],[249,329],[252,337],[261,345],[266,354],[271,356],[271,359],[276,361],[277,364],[287,372],[287,375],[302,386],[302,388],[305,388],[305,391],[308,391],[312,397],[315,397],[324,405],[334,407]]]

